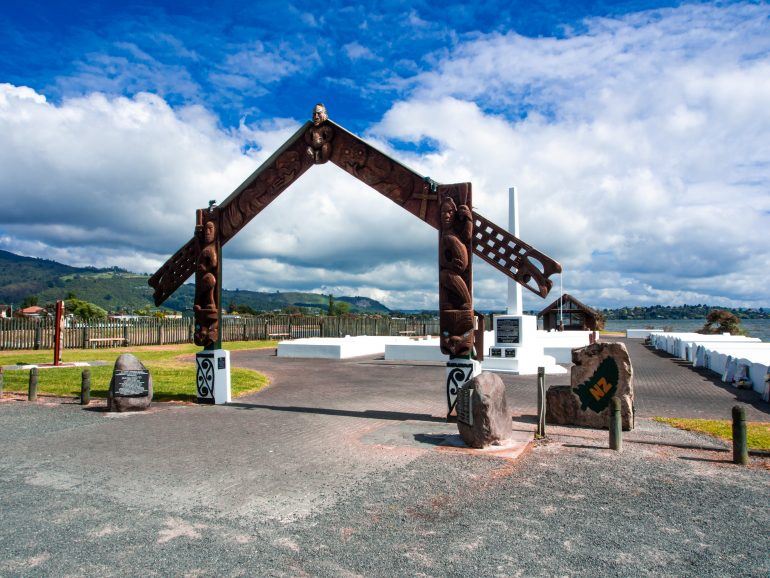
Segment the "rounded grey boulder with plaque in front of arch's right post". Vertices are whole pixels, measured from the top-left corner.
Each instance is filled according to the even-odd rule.
[[[500,376],[484,371],[466,383],[463,389],[467,392],[460,392],[460,396],[468,396],[471,418],[468,421],[471,423],[461,421],[464,412],[458,408],[457,428],[466,445],[481,449],[500,445],[511,437],[511,412],[505,398],[505,384]]]

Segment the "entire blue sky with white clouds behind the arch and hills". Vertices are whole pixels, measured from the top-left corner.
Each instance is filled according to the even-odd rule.
[[[0,249],[154,272],[329,117],[559,261],[597,307],[770,306],[770,4],[24,2],[0,10]],[[224,249],[228,289],[438,306],[436,232],[331,163]],[[506,278],[474,260],[479,309]]]

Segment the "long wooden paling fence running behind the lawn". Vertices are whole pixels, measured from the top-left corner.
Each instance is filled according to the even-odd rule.
[[[489,323],[489,321],[487,321]],[[344,337],[346,335],[438,335],[438,318],[265,315],[225,317],[222,341]],[[487,325],[487,328],[491,325]],[[192,318],[65,321],[64,348],[192,343]],[[53,349],[53,320],[0,319],[0,350]]]

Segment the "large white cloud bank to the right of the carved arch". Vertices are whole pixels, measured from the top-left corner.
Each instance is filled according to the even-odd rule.
[[[523,238],[596,303],[767,306],[769,16],[684,6],[564,39],[481,37],[416,77],[373,132],[437,142],[431,174],[472,180],[497,222],[518,185]],[[634,283],[591,293],[591,276]]]

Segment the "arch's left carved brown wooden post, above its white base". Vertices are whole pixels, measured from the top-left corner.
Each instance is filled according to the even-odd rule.
[[[209,347],[219,337],[219,209],[198,210],[195,238],[198,259],[195,265],[195,335],[196,345]]]

